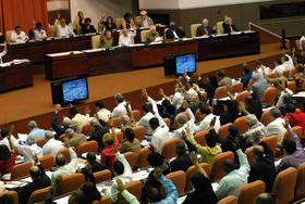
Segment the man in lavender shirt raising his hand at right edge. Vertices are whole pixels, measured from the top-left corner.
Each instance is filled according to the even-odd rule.
[[[297,135],[290,129],[288,118],[285,118],[283,126],[288,130],[290,135],[290,139],[284,140],[283,142],[285,156],[281,160],[280,164],[277,166],[278,173],[289,167],[297,168],[302,163],[305,162],[305,152],[302,148]]]

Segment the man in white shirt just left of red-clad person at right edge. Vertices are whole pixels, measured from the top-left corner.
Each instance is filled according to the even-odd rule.
[[[272,122],[270,124],[268,124],[268,126],[266,128],[267,136],[277,136],[278,145],[281,145],[283,137],[286,132],[286,129],[283,126],[285,120],[283,118],[281,118],[281,112],[278,109],[272,109],[270,111],[270,118]]]

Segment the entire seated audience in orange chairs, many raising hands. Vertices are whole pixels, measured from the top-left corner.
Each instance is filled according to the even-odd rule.
[[[113,203],[122,197],[130,203],[217,203],[229,195],[239,197],[247,183],[248,188],[261,183],[255,192],[272,193],[273,199],[285,197],[290,203],[294,189],[304,182],[296,182],[301,179],[296,169],[305,167],[301,143],[305,114],[296,110],[291,86],[302,87],[304,66],[289,54],[277,59],[273,68],[261,61],[256,64],[254,71],[244,64],[237,80],[223,71],[208,80],[185,74],[172,95],[160,89],[159,101],[143,89],[138,93],[146,101],[143,116],[117,93],[112,112],[98,101],[94,111],[86,106],[82,114],[71,107],[70,117],[59,119],[61,106],[56,105],[52,131],[34,120],[28,123],[29,132],[19,139],[12,136],[13,127],[2,129],[2,179],[27,178],[0,183],[1,190],[20,189],[23,203],[46,187],[50,189],[45,189],[45,202],[71,193],[56,201],[91,203],[109,196]],[[85,145],[90,148],[83,151]],[[15,165],[16,151],[24,162]],[[44,156],[51,160],[42,162]],[[16,175],[15,168],[26,161],[34,165]],[[101,173],[106,176],[99,177]],[[277,182],[286,177],[291,184]],[[77,178],[75,187],[65,186],[73,178]],[[269,194],[264,197],[270,199]]]

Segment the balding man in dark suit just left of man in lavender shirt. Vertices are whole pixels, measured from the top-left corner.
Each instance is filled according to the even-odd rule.
[[[248,182],[263,180],[266,183],[266,192],[271,192],[277,177],[273,152],[261,141],[253,148],[253,160],[255,163],[251,166]]]

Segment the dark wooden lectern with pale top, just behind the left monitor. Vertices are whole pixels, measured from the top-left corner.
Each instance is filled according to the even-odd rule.
[[[46,79],[53,80],[88,74],[87,54],[80,51],[46,55]]]

